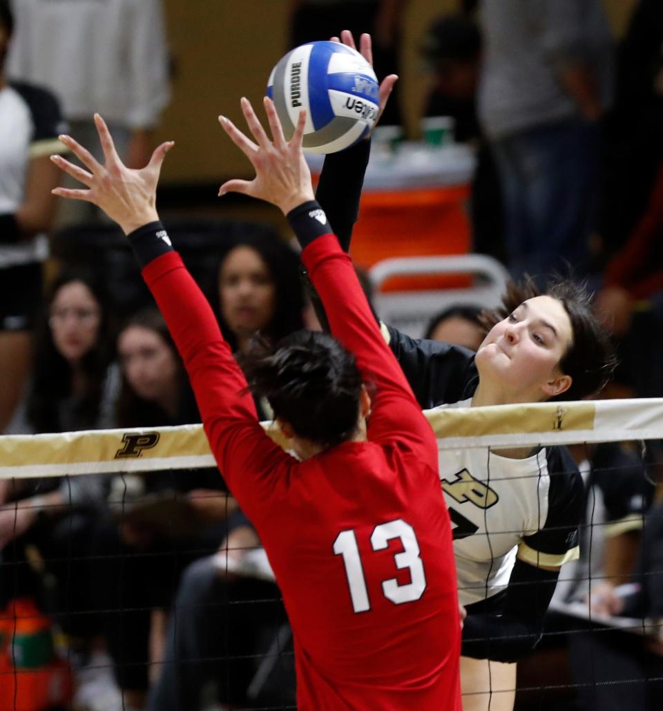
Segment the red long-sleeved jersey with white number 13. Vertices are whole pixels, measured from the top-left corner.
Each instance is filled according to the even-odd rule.
[[[333,235],[303,250],[332,333],[377,387],[368,442],[297,461],[176,252],[143,270],[184,360],[217,464],[284,597],[300,711],[459,711],[460,621],[435,436]]]

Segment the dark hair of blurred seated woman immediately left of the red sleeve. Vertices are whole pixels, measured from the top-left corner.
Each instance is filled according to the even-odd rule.
[[[124,321],[122,328],[119,330],[118,340],[119,336],[128,328],[131,328],[131,326],[140,326],[141,328],[153,331],[172,351],[173,358],[175,358],[178,364],[178,378],[176,383],[176,387],[178,388],[178,412],[173,417],[163,410],[163,407],[158,405],[157,402],[145,400],[143,397],[140,397],[134,388],[131,387],[123,372],[122,387],[120,388],[120,394],[117,400],[117,424],[119,427],[158,427],[161,425],[200,422],[198,410],[195,406],[195,399],[193,392],[191,392],[188,378],[186,377],[184,365],[161,312],[158,311],[158,309],[149,307],[129,316],[129,319]]]

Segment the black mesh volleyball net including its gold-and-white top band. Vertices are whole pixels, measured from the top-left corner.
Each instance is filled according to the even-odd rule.
[[[483,597],[505,594],[516,555],[553,567],[568,558],[541,642],[519,662],[517,678],[487,669],[463,688],[465,707],[498,710],[515,697],[522,711],[583,711],[607,707],[605,694],[627,695],[632,708],[647,703],[663,682],[663,399],[443,408],[426,417],[441,462],[458,451],[485,460],[481,476],[463,470],[443,479],[457,502],[454,538],[480,537],[477,557],[482,546],[495,552],[477,568],[485,580],[460,589],[461,599],[471,604],[482,589]],[[275,424],[264,428],[287,449]],[[580,557],[575,545],[566,555],[520,543],[500,558],[504,541],[536,540],[543,528],[554,536],[555,528],[546,521],[551,473],[541,464],[500,481],[500,461],[554,445],[568,447],[583,476]],[[10,502],[0,512],[1,708],[38,711],[47,700],[103,708],[81,694],[85,673],[104,665],[125,690],[159,688],[160,675],[176,674],[180,690],[190,683],[190,693],[202,695],[201,708],[295,707],[292,639],[269,561],[243,537],[247,522],[232,498],[207,485],[218,473],[200,479],[214,467],[200,425],[0,437],[0,486]],[[519,510],[527,477],[534,522]],[[507,484],[513,501],[497,502],[495,491]],[[49,498],[53,492],[60,498]],[[475,509],[483,526],[468,515]],[[624,605],[608,612],[595,604],[600,595]],[[96,646],[105,656],[90,652]],[[57,700],[47,698],[57,695],[49,685],[58,687]],[[126,697],[119,703],[130,707]]]

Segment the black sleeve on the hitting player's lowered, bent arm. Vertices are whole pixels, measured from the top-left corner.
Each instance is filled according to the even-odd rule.
[[[559,571],[517,560],[501,615],[468,614],[461,653],[475,659],[515,662],[534,649],[555,592]]]

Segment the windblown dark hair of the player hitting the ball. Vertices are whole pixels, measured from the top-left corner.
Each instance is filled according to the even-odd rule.
[[[551,400],[581,400],[603,389],[613,376],[617,358],[607,329],[595,317],[591,306],[591,294],[585,284],[570,279],[554,278],[543,289],[533,279],[510,282],[502,296],[502,306],[484,311],[481,322],[492,328],[527,299],[534,296],[551,296],[560,301],[571,321],[573,341],[559,361],[559,368],[572,378],[571,387]]]

